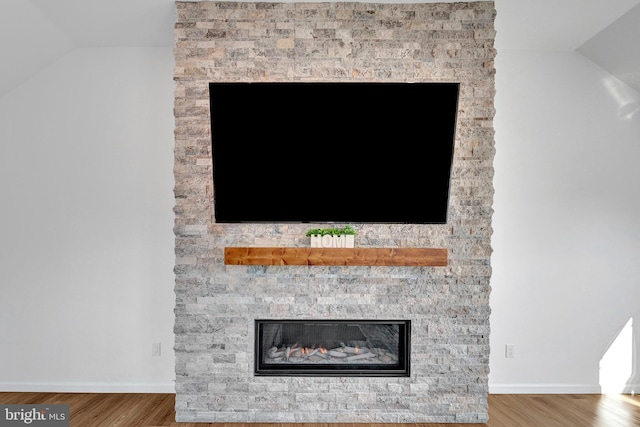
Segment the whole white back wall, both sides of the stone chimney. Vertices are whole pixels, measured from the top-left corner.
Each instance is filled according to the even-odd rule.
[[[173,389],[172,67],[77,49],[0,98],[0,390]],[[638,93],[576,53],[496,69],[490,390],[597,392],[633,319],[638,392]]]

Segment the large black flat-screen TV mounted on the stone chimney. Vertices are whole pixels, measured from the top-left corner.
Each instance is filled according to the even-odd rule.
[[[218,223],[447,222],[458,83],[210,83]]]

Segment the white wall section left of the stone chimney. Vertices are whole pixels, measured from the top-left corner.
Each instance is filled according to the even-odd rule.
[[[0,390],[173,391],[172,73],[76,49],[0,98]]]

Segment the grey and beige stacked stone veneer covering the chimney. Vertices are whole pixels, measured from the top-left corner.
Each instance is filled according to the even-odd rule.
[[[493,2],[177,3],[178,421],[487,420],[495,14]],[[448,223],[354,224],[356,246],[443,247],[447,267],[224,265],[225,246],[308,246],[315,225],[214,223],[208,83],[311,80],[460,82]],[[255,377],[256,318],[410,319],[411,376]]]

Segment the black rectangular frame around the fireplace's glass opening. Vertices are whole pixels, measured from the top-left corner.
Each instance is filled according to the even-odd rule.
[[[295,364],[264,363],[262,360],[265,324],[393,324],[399,325],[398,361],[394,364]],[[255,376],[314,376],[314,377],[409,377],[411,359],[410,320],[362,320],[362,319],[256,319],[254,344]]]

